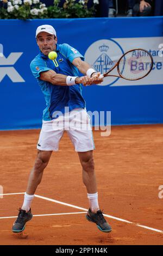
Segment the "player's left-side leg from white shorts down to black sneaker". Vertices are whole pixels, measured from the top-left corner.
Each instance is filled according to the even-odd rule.
[[[26,222],[31,220],[32,213],[30,205],[32,204],[34,193],[41,182],[43,170],[51,158],[52,151],[58,150],[59,141],[64,133],[62,129],[62,119],[60,120],[60,126],[58,126],[58,120],[59,118],[51,121],[43,121],[42,123],[39,142],[37,144],[38,151],[35,164],[29,175],[22,208],[19,209],[18,217],[12,227],[12,231],[15,233],[23,231]]]

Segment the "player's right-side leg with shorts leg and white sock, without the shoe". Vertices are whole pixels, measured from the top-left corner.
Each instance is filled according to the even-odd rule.
[[[79,108],[70,112],[68,121],[70,122],[70,127],[67,133],[75,150],[78,152],[80,163],[83,167],[83,182],[86,186],[87,193],[90,194],[90,199],[92,198],[92,202],[95,202],[90,207],[93,212],[97,212],[99,206],[97,202],[96,175],[92,153],[95,145],[90,118],[85,109]]]

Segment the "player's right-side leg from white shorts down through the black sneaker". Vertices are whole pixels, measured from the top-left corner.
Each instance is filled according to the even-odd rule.
[[[67,133],[79,155],[80,163],[82,164],[83,182],[86,186],[87,197],[89,198],[90,209],[86,214],[86,219],[96,223],[98,229],[101,231],[110,232],[111,227],[106,222],[98,205],[96,174],[92,151],[95,149],[95,145],[93,143],[90,118],[85,109],[78,109],[76,113],[74,111],[70,112],[70,121],[71,126]]]

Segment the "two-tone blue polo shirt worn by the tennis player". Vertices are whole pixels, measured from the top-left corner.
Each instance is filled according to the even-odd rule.
[[[40,73],[48,70],[54,70],[57,74],[78,76],[78,69],[72,62],[77,57],[84,60],[82,54],[68,44],[57,44],[56,46],[58,66],[55,66],[53,60],[49,59],[42,52],[30,63],[30,69],[45,96],[46,108],[43,111],[43,120],[45,121],[57,118],[58,112],[64,114],[65,107],[69,107],[69,111],[72,111],[74,108],[85,108],[85,100],[82,96],[82,84],[57,86],[40,79]]]

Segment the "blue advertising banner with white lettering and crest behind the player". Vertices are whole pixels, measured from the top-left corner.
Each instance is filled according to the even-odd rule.
[[[77,48],[97,71],[132,48],[151,52],[154,67],[146,78],[105,78],[101,86],[84,87],[83,96],[87,111],[111,111],[112,125],[163,123],[163,17],[0,20],[0,130],[41,127],[45,99],[29,65],[43,24],[54,26],[58,43]]]

